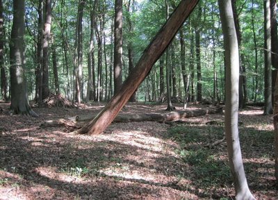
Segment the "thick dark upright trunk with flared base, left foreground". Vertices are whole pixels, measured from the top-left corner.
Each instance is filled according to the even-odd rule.
[[[24,0],[13,1],[13,27],[10,36],[10,84],[13,114],[38,117],[28,103],[28,92],[24,77]]]

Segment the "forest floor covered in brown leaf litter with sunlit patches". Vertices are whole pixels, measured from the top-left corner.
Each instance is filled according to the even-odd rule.
[[[211,145],[223,138],[223,114],[184,124],[113,123],[91,136],[40,124],[95,115],[103,104],[33,108],[37,118],[8,115],[9,103],[0,107],[0,199],[234,199],[225,141]],[[165,113],[165,108],[129,103],[121,113]],[[278,199],[272,116],[262,114],[259,107],[240,111],[245,172],[256,199]]]

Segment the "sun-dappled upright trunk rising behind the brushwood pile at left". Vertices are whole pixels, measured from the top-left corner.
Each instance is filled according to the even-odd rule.
[[[51,31],[51,0],[44,4],[44,31],[42,38],[42,99],[49,97],[49,38]]]

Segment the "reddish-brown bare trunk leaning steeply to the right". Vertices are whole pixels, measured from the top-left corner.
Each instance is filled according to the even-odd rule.
[[[122,89],[106,104],[97,117],[79,129],[77,133],[97,135],[102,133],[113,122],[113,119],[120,112],[124,104],[129,101],[133,92],[137,90],[140,83],[149,74],[156,60],[161,57],[161,54],[170,44],[188,15],[193,11],[197,2],[198,0],[183,0],[179,3],[177,9],[174,10],[171,17],[156,34],[147,49],[145,49],[136,67],[133,68],[131,74],[126,78]]]

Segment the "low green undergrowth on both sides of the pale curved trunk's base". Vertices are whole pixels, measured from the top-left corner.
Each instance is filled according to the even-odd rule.
[[[261,124],[254,124],[254,126],[243,124],[239,127],[243,158],[248,160],[245,163],[245,172],[250,179],[250,185],[254,185],[255,188],[258,186],[254,181],[264,180],[265,174],[274,167],[266,164],[274,159],[273,131],[266,128],[261,130],[259,127],[262,127]],[[167,133],[168,138],[179,144],[176,153],[190,166],[190,173],[184,174],[184,178],[190,178],[195,188],[202,190],[202,192],[195,192],[197,196],[205,199],[223,197],[230,199],[234,187],[226,141],[213,145],[213,142],[223,138],[224,125],[183,124],[170,126]],[[257,161],[253,163],[253,159]],[[262,164],[258,163],[258,159]],[[256,172],[256,169],[263,172]],[[261,190],[267,189],[261,187]]]

